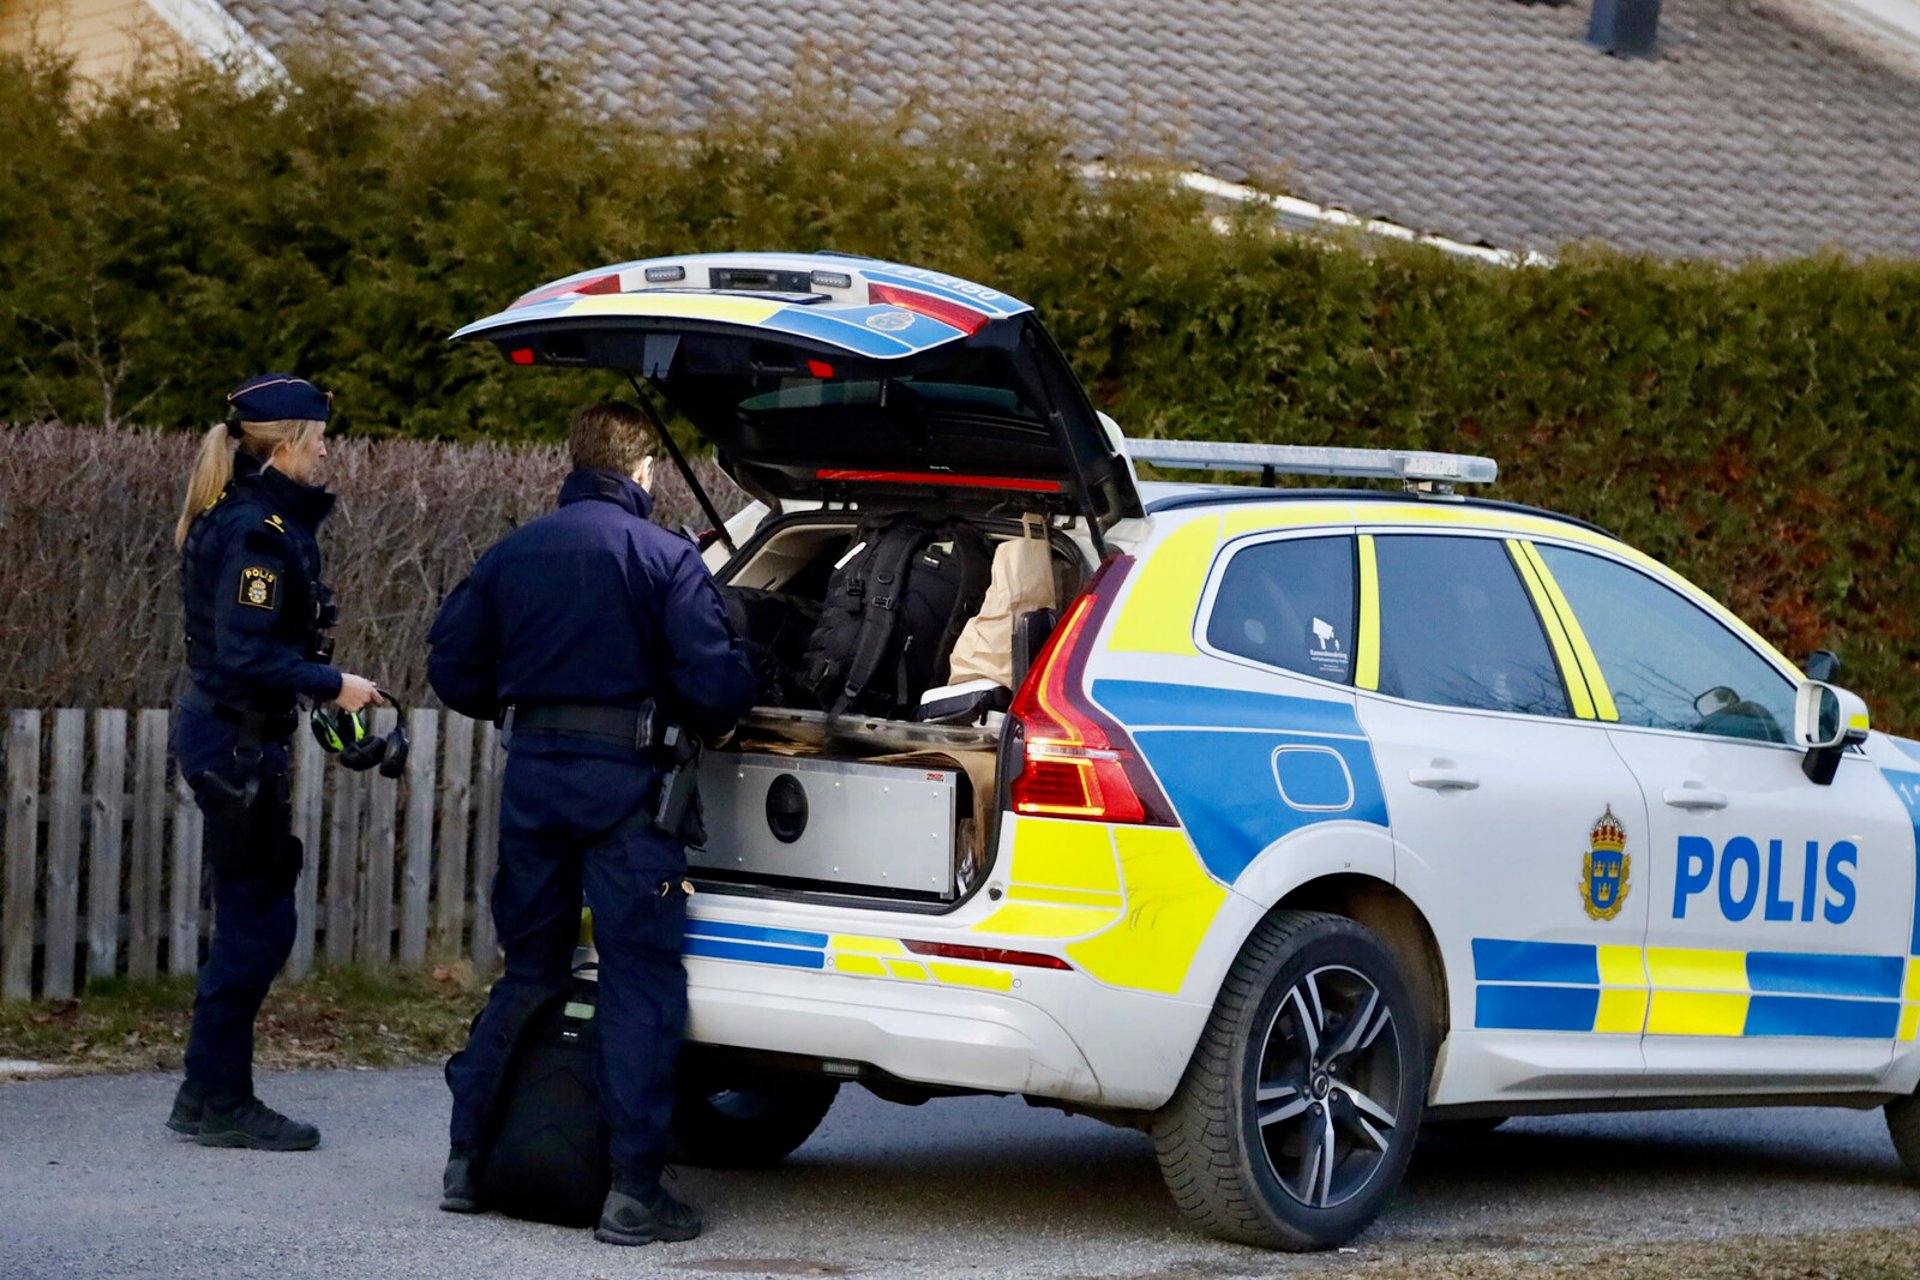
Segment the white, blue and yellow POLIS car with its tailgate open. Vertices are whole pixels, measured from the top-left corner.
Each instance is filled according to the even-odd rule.
[[[1920,743],[1605,532],[1467,497],[1488,459],[1125,439],[1025,303],[828,253],[588,271],[459,336],[676,405],[758,499],[724,581],[818,587],[918,507],[1044,522],[1064,585],[1004,716],[768,708],[708,754],[684,1155],[780,1159],[839,1082],[1021,1094],[1286,1249],[1442,1119],[1885,1105],[1920,1173]]]

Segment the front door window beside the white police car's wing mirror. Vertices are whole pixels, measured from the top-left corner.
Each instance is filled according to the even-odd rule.
[[[1713,614],[1617,560],[1540,545],[1620,723],[1786,743],[1793,681]]]

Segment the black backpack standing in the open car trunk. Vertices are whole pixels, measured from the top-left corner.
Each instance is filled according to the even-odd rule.
[[[824,710],[904,720],[947,681],[947,662],[993,574],[966,520],[868,516],[833,568],[806,641],[803,681]]]

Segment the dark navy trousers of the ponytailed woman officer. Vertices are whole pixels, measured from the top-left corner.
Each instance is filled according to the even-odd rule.
[[[238,729],[192,710],[175,723],[173,754],[188,781],[209,771],[242,781],[232,773]],[[286,743],[265,743],[261,793],[271,800],[284,791],[284,779]],[[294,950],[294,879],[275,862],[286,814],[284,806],[265,819],[259,810],[236,814],[204,787],[194,798],[205,818],[204,865],[234,867],[213,871],[213,944],[194,990],[186,1084],[209,1102],[238,1103],[253,1096],[253,1019]]]

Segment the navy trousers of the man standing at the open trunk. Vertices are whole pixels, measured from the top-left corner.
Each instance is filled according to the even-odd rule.
[[[674,1059],[687,1023],[680,963],[685,850],[653,829],[609,833],[655,802],[659,773],[622,760],[522,750],[507,756],[499,806],[493,925],[507,969],[467,1048],[447,1061],[449,1136],[478,1148],[518,1023],[538,994],[566,983],[580,900],[599,950],[599,1094],[612,1165],[657,1178],[674,1109]]]

